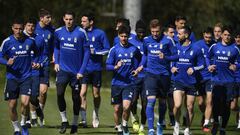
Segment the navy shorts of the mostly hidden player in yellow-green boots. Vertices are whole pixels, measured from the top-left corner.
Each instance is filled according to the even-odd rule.
[[[134,82],[134,99],[138,99],[139,96],[141,99],[146,98],[146,91],[144,85],[144,78],[137,78]]]

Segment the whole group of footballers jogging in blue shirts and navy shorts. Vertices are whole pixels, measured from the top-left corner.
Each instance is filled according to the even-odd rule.
[[[131,117],[133,131],[139,135],[145,134],[146,121],[148,135],[162,135],[168,109],[173,135],[179,135],[181,106],[184,106],[183,133],[190,135],[195,100],[202,113],[203,132],[225,135],[231,110],[236,112],[240,129],[240,31],[217,23],[213,28],[204,29],[202,39],[197,41],[186,25],[186,17],[177,16],[175,25],[164,27],[158,19],[151,20],[147,36],[144,21],[137,21],[133,34],[129,20],[119,18],[116,20],[117,36],[110,48],[106,33],[95,27],[95,17],[90,11],[81,15],[81,27],[75,23],[72,11],[64,12],[65,25],[57,29],[51,25],[51,19],[48,10],[40,9],[38,22],[32,18],[25,22],[14,20],[13,34],[0,48],[0,64],[7,69],[4,97],[8,101],[14,135],[28,135],[30,127],[45,125],[44,106],[51,63],[56,71],[57,104],[62,121],[60,134],[66,133],[70,125],[70,134],[77,134],[79,124],[83,128],[88,126],[86,94],[89,84],[94,103],[92,126],[99,127],[103,69],[113,72],[111,104],[119,134],[129,135]],[[103,64],[103,56],[107,54],[106,64]],[[70,125],[64,97],[68,85],[73,102]],[[159,118],[155,132],[157,99]]]

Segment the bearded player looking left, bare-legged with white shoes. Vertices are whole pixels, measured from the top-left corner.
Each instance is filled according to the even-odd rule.
[[[196,71],[204,68],[204,57],[200,49],[193,45],[190,41],[190,28],[184,26],[178,30],[178,61],[171,68],[171,72],[175,76],[174,81],[174,108],[175,126],[173,135],[179,135],[179,119],[181,105],[184,102],[183,97],[186,97],[187,115],[186,127],[184,135],[190,135],[190,126],[194,115],[194,100],[196,95]]]

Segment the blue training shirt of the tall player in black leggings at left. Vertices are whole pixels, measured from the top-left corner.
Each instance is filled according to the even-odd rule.
[[[90,56],[84,29],[75,26],[68,31],[65,26],[56,29],[54,35],[54,59],[60,69],[74,74],[85,73]]]

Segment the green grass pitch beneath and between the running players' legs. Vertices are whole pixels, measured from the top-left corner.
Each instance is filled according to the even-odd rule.
[[[7,102],[3,100],[3,87],[4,87],[4,78],[1,77],[0,81],[0,88],[2,92],[0,93],[0,134],[1,135],[10,135],[12,134],[12,125],[8,116],[8,107]],[[91,90],[88,91],[88,125],[89,128],[79,128],[78,134],[82,135],[111,135],[116,134],[113,129],[114,122],[113,122],[113,107],[110,105],[110,89],[102,89],[102,104],[100,108],[100,127],[99,128],[91,128],[91,115],[92,115],[92,95]],[[71,116],[72,116],[72,100],[71,100],[71,91],[68,88],[66,91],[66,102],[67,102],[67,115],[68,119],[71,123]],[[157,106],[157,105],[156,105]],[[196,105],[195,105],[196,106]],[[19,111],[19,110],[18,110]],[[58,128],[61,123],[60,114],[57,108],[57,100],[56,100],[56,89],[54,88],[54,84],[48,91],[48,99],[47,104],[45,107],[45,121],[46,127],[44,128],[31,128],[30,134],[32,135],[58,135]],[[201,115],[199,113],[199,109],[195,107],[195,118],[193,121],[192,132],[194,135],[204,135],[201,131],[199,123],[201,119]],[[227,128],[228,135],[239,135],[239,131],[235,130],[235,114],[231,115],[231,119],[229,121],[229,126]],[[20,117],[19,117],[20,118]],[[166,117],[168,121],[168,117]],[[155,120],[156,122],[156,120]],[[130,125],[131,126],[131,125]],[[132,132],[132,129],[130,129]],[[70,129],[67,130],[66,134],[69,134]],[[172,134],[172,129],[167,128],[164,130],[164,134]]]

